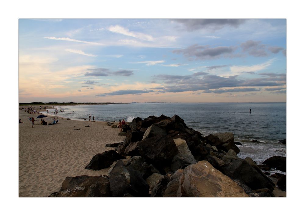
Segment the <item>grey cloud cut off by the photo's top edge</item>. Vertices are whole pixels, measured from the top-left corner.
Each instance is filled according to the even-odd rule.
[[[174,19],[174,21],[184,24],[188,31],[194,31],[203,28],[217,30],[225,26],[238,28],[246,19]]]

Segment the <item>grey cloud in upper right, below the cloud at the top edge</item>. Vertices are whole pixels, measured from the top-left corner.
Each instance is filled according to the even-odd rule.
[[[218,46],[209,48],[208,46],[202,46],[194,44],[185,49],[173,50],[173,53],[182,53],[185,57],[195,56],[196,59],[217,59],[221,57],[231,57],[236,47],[233,46]],[[190,60],[190,59],[189,59]]]

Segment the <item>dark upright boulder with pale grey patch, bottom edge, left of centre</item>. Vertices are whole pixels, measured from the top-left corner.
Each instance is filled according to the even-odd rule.
[[[110,190],[114,197],[122,197],[125,193],[135,197],[147,197],[149,185],[142,178],[140,171],[125,167],[119,160],[109,173]]]

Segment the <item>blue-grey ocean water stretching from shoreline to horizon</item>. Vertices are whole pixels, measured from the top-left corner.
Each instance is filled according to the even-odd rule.
[[[242,143],[238,146],[240,158],[251,157],[261,164],[272,156],[286,157],[286,144],[278,143],[286,139],[286,103],[129,103],[58,106],[57,110],[57,117],[89,120],[91,114],[91,120],[94,116],[95,121],[116,122],[177,114],[203,135],[232,132],[235,142]],[[51,111],[54,113],[49,110],[49,114]]]

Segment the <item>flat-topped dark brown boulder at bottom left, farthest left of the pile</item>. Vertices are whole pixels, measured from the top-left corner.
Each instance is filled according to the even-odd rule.
[[[61,189],[49,197],[111,197],[106,175],[66,177]]]

